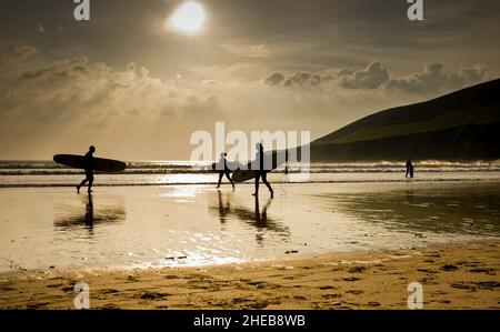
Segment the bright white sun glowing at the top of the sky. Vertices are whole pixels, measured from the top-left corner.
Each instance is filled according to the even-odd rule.
[[[203,29],[206,20],[203,6],[196,1],[187,1],[176,9],[168,23],[174,30],[196,33]]]

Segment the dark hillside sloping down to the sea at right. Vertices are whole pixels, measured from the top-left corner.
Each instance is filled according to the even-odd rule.
[[[381,111],[311,143],[313,161],[500,159],[500,79]]]

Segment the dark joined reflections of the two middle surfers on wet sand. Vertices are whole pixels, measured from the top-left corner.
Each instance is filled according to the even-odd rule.
[[[210,207],[210,210],[217,210],[219,214],[220,223],[223,225],[229,218],[236,218],[239,221],[253,225],[257,229],[256,241],[261,244],[264,240],[267,231],[279,233],[280,235],[290,237],[290,229],[283,225],[281,222],[273,218],[268,217],[268,209],[271,207],[272,200],[268,199],[266,204],[260,208],[260,202],[257,197],[252,197],[254,200],[254,209],[248,209],[241,205],[231,207],[232,193],[222,194],[218,191],[218,207]]]

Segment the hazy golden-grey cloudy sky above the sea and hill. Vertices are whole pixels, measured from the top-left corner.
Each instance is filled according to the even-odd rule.
[[[219,121],[316,139],[500,76],[496,0],[200,0],[194,32],[184,2],[2,0],[0,159],[186,160]]]

